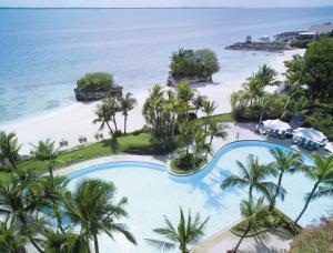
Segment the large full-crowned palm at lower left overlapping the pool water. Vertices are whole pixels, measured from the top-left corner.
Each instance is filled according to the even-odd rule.
[[[80,224],[81,231],[93,239],[94,250],[99,253],[98,234],[107,233],[113,239],[113,232],[122,233],[130,242],[137,244],[127,225],[117,220],[128,214],[123,209],[127,198],[114,203],[115,186],[102,180],[84,180],[79,183],[73,193],[63,194],[65,213],[72,222]]]

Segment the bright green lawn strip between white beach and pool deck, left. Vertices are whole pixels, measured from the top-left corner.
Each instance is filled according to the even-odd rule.
[[[117,153],[124,152],[129,146],[140,145],[149,146],[150,145],[150,133],[141,133],[138,135],[125,135],[118,138],[117,142],[110,140],[104,140],[94,144],[79,146],[70,151],[62,151],[59,154],[58,162],[56,168],[68,166],[73,163],[82,162],[85,160],[111,155]],[[46,170],[46,163],[38,161],[36,159],[27,160],[18,163],[19,170]],[[7,180],[9,172],[0,172],[0,181]]]

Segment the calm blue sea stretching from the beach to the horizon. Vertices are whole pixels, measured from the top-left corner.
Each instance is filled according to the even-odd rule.
[[[74,103],[78,78],[111,71],[138,93],[165,82],[179,48],[211,48],[216,81],[243,80],[272,53],[225,51],[253,37],[332,21],[310,9],[0,9],[0,122]]]

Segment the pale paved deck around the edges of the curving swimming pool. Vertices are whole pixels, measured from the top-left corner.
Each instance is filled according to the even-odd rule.
[[[292,143],[291,139],[280,140],[276,138],[266,138],[254,132],[255,123],[226,123],[229,126],[225,131],[228,132],[228,138],[225,140],[214,139],[213,141],[213,150],[216,152],[223,145],[238,141],[238,140],[261,140],[261,141],[270,141],[276,144],[282,144],[292,149],[300,150],[296,145]],[[302,152],[310,154],[309,151],[301,149]],[[321,152],[320,152],[321,153]],[[163,156],[153,156],[153,155],[129,155],[129,154],[119,154],[119,155],[110,155],[99,159],[89,160],[85,162],[72,164],[70,166],[63,168],[61,170],[57,170],[56,174],[58,175],[67,175],[69,173],[110,162],[119,162],[119,161],[140,161],[140,162],[149,162],[157,163],[160,165],[165,165],[168,159],[171,155]],[[204,239],[202,243],[193,249],[195,253],[221,253],[226,252],[226,250],[231,250],[238,243],[239,237],[230,232],[230,227],[234,224],[230,224],[226,227],[221,227],[221,231],[214,233],[213,235]],[[249,237],[245,239],[241,245],[240,252],[283,252],[289,249],[289,244],[291,242],[291,237],[285,234],[276,234],[276,233],[268,233],[264,239]]]

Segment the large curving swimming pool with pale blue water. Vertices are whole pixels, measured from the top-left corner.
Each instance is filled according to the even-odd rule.
[[[143,239],[157,235],[152,229],[163,226],[163,214],[172,222],[178,222],[179,206],[192,212],[200,212],[202,219],[211,216],[206,235],[210,235],[229,223],[241,217],[239,205],[248,196],[246,190],[238,188],[221,191],[220,184],[230,174],[238,173],[236,160],[244,162],[248,154],[259,156],[260,162],[269,163],[273,158],[269,149],[279,148],[287,152],[293,150],[263,141],[239,141],[221,148],[211,162],[201,172],[190,176],[174,176],[165,166],[144,162],[113,162],[100,164],[70,174],[70,190],[87,178],[98,178],[114,182],[118,196],[128,196],[127,211],[130,214],[124,222],[134,233],[139,246],[133,246],[121,235],[112,242],[101,234],[101,252],[158,252],[147,244]],[[311,159],[303,156],[305,163]],[[283,186],[287,191],[284,202],[278,206],[291,217],[295,217],[303,208],[304,194],[311,191],[312,182],[303,174],[285,175]],[[312,202],[301,220],[309,224],[317,219],[329,208],[327,199]],[[110,250],[111,249],[111,250]]]

